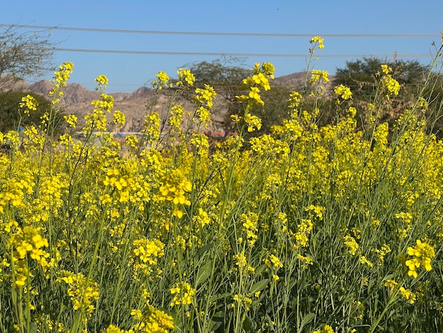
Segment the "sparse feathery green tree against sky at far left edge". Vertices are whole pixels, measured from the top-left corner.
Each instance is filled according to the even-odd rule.
[[[52,69],[50,30],[22,32],[20,26],[0,26],[0,91],[17,81],[40,77]],[[6,28],[5,28],[6,27]]]

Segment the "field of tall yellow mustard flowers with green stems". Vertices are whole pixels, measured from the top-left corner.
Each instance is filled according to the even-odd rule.
[[[323,39],[310,42],[311,66]],[[105,75],[84,125],[59,117],[72,71],[55,72],[40,125],[0,133],[1,332],[442,331],[443,142],[427,130],[442,105],[418,94],[379,122],[401,89],[389,66],[362,130],[352,91],[326,93],[310,69],[287,119],[254,137],[274,73],[255,64],[217,145],[202,134],[217,91],[189,70],[159,72],[168,118],[147,110],[124,141]],[[193,110],[176,104],[185,90]],[[338,116],[320,127],[324,94]],[[22,118],[38,108],[22,101]]]

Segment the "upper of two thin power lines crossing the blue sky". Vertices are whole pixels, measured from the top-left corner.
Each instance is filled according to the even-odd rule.
[[[28,26],[15,24],[0,24],[0,27],[8,28],[31,28],[45,30],[69,30],[86,31],[96,33],[145,33],[157,35],[221,35],[221,36],[258,36],[258,37],[312,37],[321,35],[322,37],[337,38],[367,38],[367,37],[435,37],[438,33],[217,33],[217,32],[197,32],[197,31],[159,31],[159,30],[123,30],[123,29],[98,29],[98,28],[78,28],[60,26]]]

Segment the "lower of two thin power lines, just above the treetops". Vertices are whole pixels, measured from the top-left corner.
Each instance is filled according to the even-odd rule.
[[[307,57],[297,54],[277,54],[277,53],[235,53],[235,52],[165,52],[165,51],[137,51],[137,50],[96,50],[96,49],[78,49],[78,48],[66,48],[66,47],[52,47],[47,50],[62,51],[62,52],[85,52],[85,53],[115,53],[122,55],[207,55],[207,56],[219,56],[230,55],[234,57]],[[432,57],[427,53],[418,54],[384,54],[384,55],[319,55],[319,57],[326,58],[352,58],[352,57]]]

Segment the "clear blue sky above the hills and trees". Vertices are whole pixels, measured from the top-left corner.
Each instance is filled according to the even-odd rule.
[[[325,47],[318,52],[316,69],[335,73],[355,57],[331,55],[391,55],[429,64],[434,41],[441,45],[443,1],[349,1],[349,0],[76,0],[6,1],[0,4],[0,24],[57,26],[113,30],[178,31],[200,33],[269,33],[324,36]],[[435,36],[349,37],[349,34],[435,34]],[[277,77],[306,69],[305,57],[264,57],[309,55],[308,36],[265,37],[236,35],[168,35],[153,33],[105,33],[52,30],[57,47],[86,50],[144,52],[205,52],[253,54],[243,57],[246,67],[255,62],[275,64]],[[322,57],[325,55],[325,57]],[[154,74],[174,76],[178,67],[220,56],[137,55],[57,51],[54,65],[74,62],[70,82],[95,86],[99,74],[108,76],[108,92],[130,92],[149,85]],[[52,79],[52,72],[38,79]],[[34,80],[35,81],[35,80]],[[38,81],[38,80],[37,80]]]

